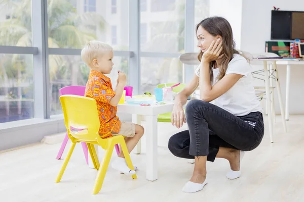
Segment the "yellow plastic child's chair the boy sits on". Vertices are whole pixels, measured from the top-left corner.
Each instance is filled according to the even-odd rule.
[[[72,145],[57,176],[56,183],[60,182],[74,147],[76,143],[79,142],[87,143],[93,165],[95,169],[98,170],[93,194],[98,193],[101,189],[115,144],[121,144],[127,165],[131,170],[134,170],[125,139],[122,135],[116,135],[106,139],[100,138],[98,134],[100,123],[95,99],[78,95],[62,95],[60,96],[60,102],[62,105],[65,127],[67,129],[68,137],[72,141]],[[78,132],[72,131],[70,129],[71,127],[82,130]],[[105,149],[101,166],[99,165],[94,144]],[[136,174],[132,175],[132,178],[136,179]]]

